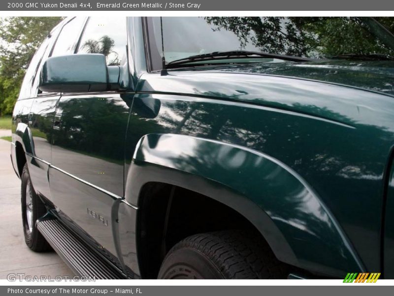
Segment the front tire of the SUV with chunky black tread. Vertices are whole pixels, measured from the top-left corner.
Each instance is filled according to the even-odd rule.
[[[160,279],[285,279],[280,262],[259,233],[226,230],[189,236],[166,255]]]

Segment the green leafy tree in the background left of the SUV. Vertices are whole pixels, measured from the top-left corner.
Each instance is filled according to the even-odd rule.
[[[34,52],[62,17],[0,18],[0,116],[12,113]]]

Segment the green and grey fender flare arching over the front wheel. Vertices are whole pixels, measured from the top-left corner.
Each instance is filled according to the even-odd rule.
[[[138,205],[148,182],[181,186],[230,206],[255,225],[283,262],[338,277],[365,271],[313,188],[262,152],[186,135],[148,134],[134,151],[126,201]]]

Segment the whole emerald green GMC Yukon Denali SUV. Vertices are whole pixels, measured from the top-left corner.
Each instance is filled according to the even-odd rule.
[[[67,18],[13,112],[33,251],[96,278],[394,278],[373,18]]]

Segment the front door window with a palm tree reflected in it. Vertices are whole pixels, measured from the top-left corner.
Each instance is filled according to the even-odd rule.
[[[91,17],[77,53],[101,53],[108,66],[119,65],[126,54],[126,18]]]

